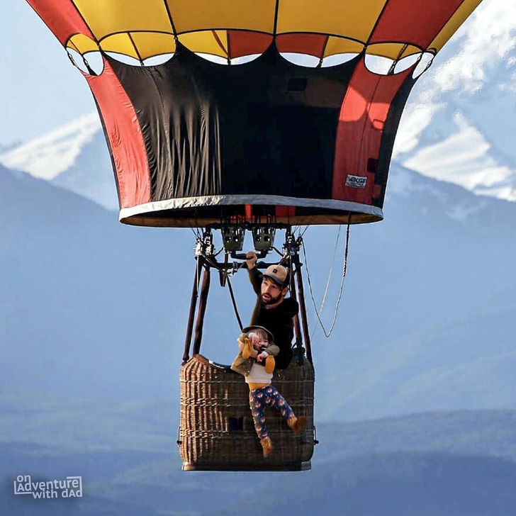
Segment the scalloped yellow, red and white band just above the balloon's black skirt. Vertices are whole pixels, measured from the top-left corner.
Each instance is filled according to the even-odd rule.
[[[236,50],[230,51],[230,41]],[[280,34],[274,38],[246,30],[201,30],[178,38],[169,33],[120,33],[99,42],[84,34],[74,34],[66,47],[70,60],[81,72],[96,76],[103,72],[104,57],[129,66],[156,67],[173,60],[181,46],[208,62],[239,66],[257,60],[271,45],[284,60],[298,67],[338,67],[363,55],[371,73],[391,75],[413,68],[414,78],[425,72],[434,57],[434,52],[408,43],[365,45],[321,34]]]

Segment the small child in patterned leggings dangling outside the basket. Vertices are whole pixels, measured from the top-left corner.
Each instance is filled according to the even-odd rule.
[[[276,407],[296,434],[300,434],[306,424],[306,417],[296,417],[285,398],[271,384],[274,357],[279,353],[279,347],[272,341],[271,332],[262,326],[244,328],[238,338],[240,353],[231,365],[233,371],[245,376],[249,386],[249,407],[264,457],[272,453],[271,438],[265,425],[266,408]]]

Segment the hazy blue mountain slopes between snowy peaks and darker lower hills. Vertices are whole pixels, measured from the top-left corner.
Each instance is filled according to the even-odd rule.
[[[393,184],[398,172],[404,181],[406,171],[395,167]],[[352,228],[330,340],[322,339],[306,287],[321,420],[515,403],[515,381],[500,371],[510,369],[506,335],[516,332],[516,242],[507,238],[516,205],[482,198],[481,211],[456,220],[449,207],[474,206],[478,196],[409,177],[403,194],[388,199],[386,220]],[[121,225],[96,203],[19,172],[0,170],[0,186],[0,213],[9,220],[0,229],[0,388],[177,400],[194,235]],[[304,235],[315,299],[335,232]],[[486,264],[495,267],[483,274]],[[338,284],[330,284],[328,307]],[[254,293],[247,277],[232,285],[248,320]],[[228,292],[213,284],[201,352],[230,364],[238,332]]]

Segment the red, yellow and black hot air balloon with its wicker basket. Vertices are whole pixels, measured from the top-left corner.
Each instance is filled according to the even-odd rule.
[[[94,95],[120,221],[202,229],[181,368],[184,469],[310,467],[314,374],[292,228],[383,218],[410,90],[480,1],[28,0]],[[297,358],[277,379],[308,426],[299,437],[271,423],[279,444],[264,462],[249,447],[241,378],[199,352],[211,269],[228,284],[245,231],[265,257],[277,228],[301,307]]]

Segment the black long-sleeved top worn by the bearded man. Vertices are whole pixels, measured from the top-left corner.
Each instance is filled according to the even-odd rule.
[[[274,344],[279,347],[276,369],[285,369],[292,359],[292,339],[294,336],[293,316],[298,313],[298,302],[293,298],[284,298],[276,308],[265,308],[262,303],[261,288],[263,274],[256,267],[249,271],[249,281],[257,293],[257,302],[252,311],[250,325],[267,328],[274,337]]]

